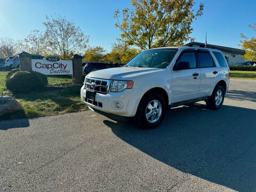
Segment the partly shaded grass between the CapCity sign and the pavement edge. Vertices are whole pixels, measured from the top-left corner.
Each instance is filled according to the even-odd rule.
[[[65,90],[12,95],[23,111],[7,114],[0,119],[34,118],[87,110],[87,105],[81,101],[80,89],[80,86],[75,86]]]

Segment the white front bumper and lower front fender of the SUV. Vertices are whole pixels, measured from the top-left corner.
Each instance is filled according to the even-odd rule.
[[[144,92],[139,89],[126,89],[122,92],[110,92],[107,94],[96,93],[95,103],[88,102],[85,98],[86,89],[81,88],[81,100],[91,108],[104,111],[106,113],[132,117],[136,114],[140,99]],[[120,108],[115,107],[115,103],[121,104]],[[102,103],[102,105],[99,103]]]

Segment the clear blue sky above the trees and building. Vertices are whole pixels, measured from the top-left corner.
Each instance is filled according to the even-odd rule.
[[[74,3],[72,3],[74,2]],[[111,43],[119,37],[115,28],[114,11],[131,7],[129,0],[0,0],[0,37],[23,39],[33,29],[43,30],[45,15],[55,13],[66,16],[90,35],[89,45],[103,46],[111,50]],[[255,36],[248,25],[256,22],[255,0],[196,0],[205,4],[204,14],[193,23],[196,42],[205,41],[205,32],[209,44],[238,47],[240,34]],[[245,3],[246,2],[246,3]]]

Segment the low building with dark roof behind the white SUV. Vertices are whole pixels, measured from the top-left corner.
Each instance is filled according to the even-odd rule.
[[[186,44],[186,46],[205,47],[205,44],[198,43],[198,42],[191,42]],[[225,56],[228,62],[228,65],[234,66],[234,65],[242,64],[245,61],[245,59],[241,57],[241,55],[245,54],[244,50],[225,47],[225,46],[219,46],[219,45],[211,45],[211,44],[207,44],[207,48],[217,49],[222,51],[223,55]]]

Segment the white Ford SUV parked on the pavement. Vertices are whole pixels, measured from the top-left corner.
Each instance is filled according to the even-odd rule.
[[[168,107],[204,100],[210,109],[219,109],[229,78],[219,50],[163,47],[139,53],[124,67],[91,72],[81,99],[92,110],[136,116],[142,126],[153,128]]]

